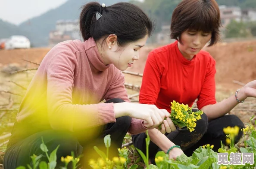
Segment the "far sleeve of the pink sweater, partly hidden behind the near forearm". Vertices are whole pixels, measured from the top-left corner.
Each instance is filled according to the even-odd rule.
[[[106,93],[106,99],[110,100],[113,98],[119,98],[124,100],[125,102],[130,102],[127,96],[127,92],[125,90],[125,76],[121,71],[118,71],[116,75],[114,76],[113,82],[109,88],[109,90]],[[143,125],[144,120],[131,118],[131,125],[128,130],[128,133],[131,134],[138,134],[143,133],[147,130],[146,127]]]

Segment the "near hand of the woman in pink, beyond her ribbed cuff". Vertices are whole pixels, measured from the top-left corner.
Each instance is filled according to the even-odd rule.
[[[122,103],[116,103],[122,104]],[[116,105],[114,104],[114,105]],[[115,107],[114,107],[115,109]],[[155,105],[139,103],[123,103],[122,109],[127,112],[131,118],[144,120],[144,127],[148,129],[156,128],[162,124],[164,118],[170,117],[170,113],[165,109],[158,109]]]

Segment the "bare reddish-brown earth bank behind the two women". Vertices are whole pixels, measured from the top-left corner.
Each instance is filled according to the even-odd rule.
[[[148,53],[155,47],[140,50],[140,59],[128,71],[143,73]],[[219,43],[204,48],[216,60],[216,82],[232,83],[233,80],[247,83],[256,79],[256,41]],[[0,50],[0,66],[18,63],[21,67],[36,67],[22,59],[40,63],[50,48]]]

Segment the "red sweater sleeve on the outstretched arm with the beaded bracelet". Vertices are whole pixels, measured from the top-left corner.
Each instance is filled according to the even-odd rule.
[[[206,77],[203,81],[203,86],[200,91],[197,107],[202,109],[204,106],[215,104],[215,60],[212,58],[206,72]]]

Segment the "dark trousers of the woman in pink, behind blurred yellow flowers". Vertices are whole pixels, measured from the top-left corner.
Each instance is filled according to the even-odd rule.
[[[124,101],[121,99],[112,99],[108,100],[106,103],[121,102]],[[64,164],[60,162],[60,159],[61,157],[71,155],[71,151],[74,151],[76,157],[81,154],[84,155],[84,157],[81,158],[81,164],[84,166],[84,168],[87,168],[89,159],[97,160],[97,158],[100,157],[98,154],[96,154],[96,151],[93,148],[95,145],[101,151],[106,152],[103,138],[108,134],[111,135],[109,158],[118,155],[117,148],[121,148],[123,139],[128,132],[130,124],[131,118],[128,116],[117,118],[116,123],[110,123],[101,126],[100,132],[93,140],[82,139],[83,136],[86,137],[88,130],[79,131],[80,133],[76,132],[75,134],[67,131],[44,130],[33,133],[30,136],[26,136],[25,138],[17,138],[15,133],[19,133],[20,128],[19,125],[16,124],[12,131],[14,135],[12,135],[10,138],[10,144],[7,145],[7,150],[4,156],[4,168],[16,169],[18,166],[27,167],[27,164],[32,166],[30,156],[33,154],[37,156],[42,154],[43,157],[41,160],[48,161],[46,154],[41,151],[40,148],[42,143],[41,137],[43,137],[44,144],[49,150],[48,154],[50,154],[58,145],[60,145],[57,151],[57,168],[64,166]]]

